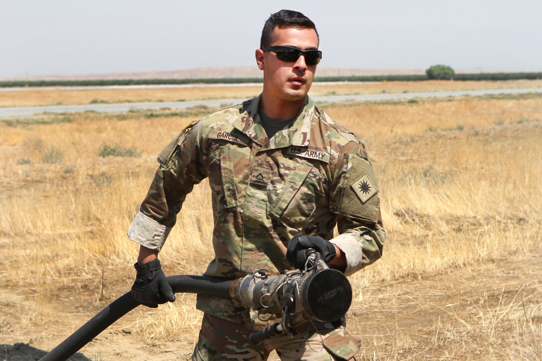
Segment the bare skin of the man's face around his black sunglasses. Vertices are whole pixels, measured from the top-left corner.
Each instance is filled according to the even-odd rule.
[[[300,50],[318,49],[318,37],[313,29],[278,28],[274,30],[271,46],[288,46]],[[263,70],[263,91],[274,101],[305,100],[312,85],[316,65],[307,65],[305,56],[295,62],[277,59],[272,51],[256,50],[256,62]]]

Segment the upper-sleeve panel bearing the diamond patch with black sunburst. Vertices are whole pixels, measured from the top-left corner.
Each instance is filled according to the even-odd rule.
[[[380,203],[375,171],[366,159],[356,154],[345,154],[346,157],[348,165],[341,184],[338,212],[375,223]]]

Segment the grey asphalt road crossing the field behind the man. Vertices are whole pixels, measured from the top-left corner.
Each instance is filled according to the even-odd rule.
[[[314,96],[315,102],[336,102],[336,101],[378,101],[415,98],[447,98],[448,96],[481,96],[487,94],[524,94],[542,93],[542,88],[521,88],[521,89],[486,89],[477,91],[455,91],[455,92],[428,92],[428,93],[379,93],[359,95],[331,95]],[[222,99],[222,100],[196,100],[196,101],[171,101],[171,102],[150,102],[150,103],[128,103],[128,104],[86,104],[86,105],[51,105],[41,107],[14,107],[0,108],[0,117],[28,117],[40,113],[73,113],[73,112],[127,112],[131,109],[185,109],[193,106],[204,105],[211,108],[225,107],[239,104],[245,99]]]

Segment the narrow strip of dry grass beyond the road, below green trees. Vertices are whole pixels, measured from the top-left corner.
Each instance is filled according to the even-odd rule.
[[[542,80],[514,81],[395,81],[352,83],[341,86],[313,83],[311,94],[354,95],[377,93],[416,93],[436,91],[466,91],[475,89],[539,88]],[[191,101],[209,99],[249,99],[260,94],[261,86],[193,88],[177,87],[163,89],[79,89],[61,88],[0,92],[0,107],[23,107],[42,105],[108,104],[130,102]]]

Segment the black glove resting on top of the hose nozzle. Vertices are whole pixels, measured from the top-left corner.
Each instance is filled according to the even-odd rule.
[[[288,250],[286,252],[286,260],[288,263],[297,269],[305,269],[307,248],[314,248],[316,252],[322,255],[322,260],[326,263],[331,261],[337,255],[335,246],[333,246],[333,243],[330,241],[326,241],[320,236],[304,236],[298,234],[292,238],[290,243],[288,243]]]

